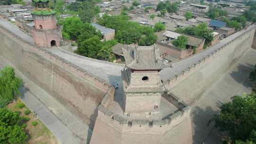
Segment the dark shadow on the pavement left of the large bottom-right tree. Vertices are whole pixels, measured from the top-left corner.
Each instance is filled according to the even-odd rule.
[[[220,105],[222,103],[217,102],[217,106]],[[192,108],[193,144],[222,144],[219,132],[214,127],[214,122],[211,121],[215,114],[218,114],[218,111],[214,111],[210,107]]]

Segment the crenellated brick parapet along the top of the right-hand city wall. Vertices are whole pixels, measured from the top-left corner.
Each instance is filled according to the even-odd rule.
[[[197,70],[199,70],[202,66],[206,65],[207,63],[212,62],[215,58],[217,58],[219,56],[220,53],[223,52],[224,49],[229,48],[229,46],[231,44],[233,44],[235,41],[237,41],[238,39],[243,38],[247,33],[250,33],[252,31],[255,31],[255,27],[252,27],[250,29],[248,29],[247,31],[241,33],[240,35],[238,35],[237,37],[231,39],[228,43],[226,43],[225,45],[222,45],[221,47],[219,47],[218,49],[216,49],[214,52],[211,52],[210,54],[208,54],[205,57],[202,57],[201,60],[197,61],[196,63],[193,63],[191,66],[188,66],[186,69],[184,69],[183,71],[176,73],[176,75],[174,75],[173,77],[171,77],[169,80],[165,81],[163,83],[163,85],[165,86],[165,88],[167,90],[171,89],[172,87],[174,87],[177,83],[183,81],[184,79],[186,79],[188,76],[190,76],[192,73],[196,72]],[[210,47],[211,48],[211,47]],[[203,51],[202,53],[204,53],[206,51]],[[194,55],[196,56],[196,55]],[[182,61],[182,60],[181,60]]]

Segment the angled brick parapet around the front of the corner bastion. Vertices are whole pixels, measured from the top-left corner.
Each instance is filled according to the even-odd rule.
[[[184,107],[170,117],[164,120],[132,120],[128,121],[123,117],[119,117],[112,111],[104,108],[102,105],[98,107],[98,118],[105,121],[110,126],[118,129],[121,133],[152,133],[164,134],[169,129],[177,126],[182,121],[190,118],[190,107]]]

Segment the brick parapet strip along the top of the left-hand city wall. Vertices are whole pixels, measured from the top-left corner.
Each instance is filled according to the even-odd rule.
[[[36,45],[33,45],[33,44],[27,42],[26,40],[15,35],[14,33],[9,31],[5,27],[0,26],[0,28],[3,29],[5,32],[9,33],[11,36],[14,36],[15,38],[17,38],[22,43],[26,44],[27,48],[30,51],[41,54],[41,55],[47,57],[48,59],[52,60],[53,62],[58,63],[59,65],[66,68],[68,71],[73,72],[75,75],[80,76],[82,79],[84,79],[86,81],[90,81],[93,85],[95,85],[102,91],[108,92],[108,90],[111,88],[111,84],[108,83],[107,81],[104,81],[104,80],[96,77],[95,75],[91,74],[90,72],[87,72],[86,70],[82,69],[81,67],[79,67],[73,63],[70,63],[67,60],[64,60],[62,57],[59,57],[56,54],[52,54],[52,52],[48,51],[45,48],[40,48],[40,47],[37,47]]]

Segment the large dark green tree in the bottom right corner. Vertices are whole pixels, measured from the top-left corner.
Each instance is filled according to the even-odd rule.
[[[214,117],[215,126],[220,131],[228,132],[231,144],[241,144],[239,141],[256,142],[256,95],[244,94],[220,107],[219,115]],[[242,143],[242,144],[251,144]]]

